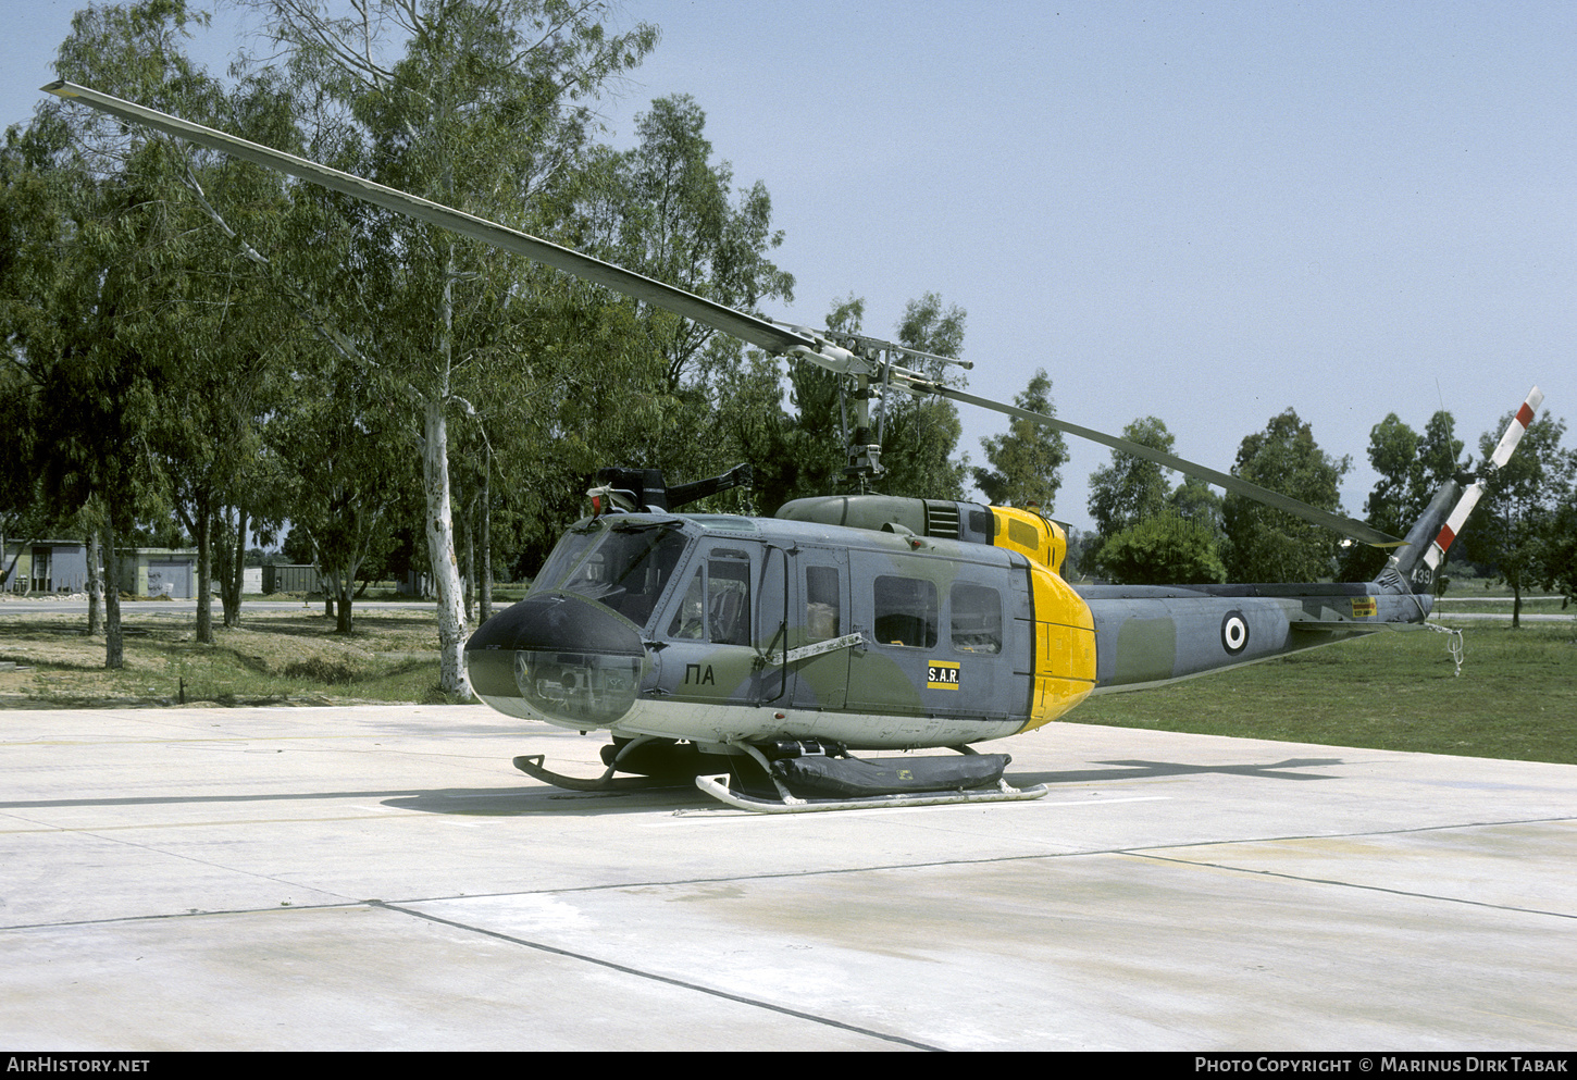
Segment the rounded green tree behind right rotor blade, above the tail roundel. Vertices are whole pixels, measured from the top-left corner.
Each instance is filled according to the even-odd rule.
[[[1243,440],[1233,475],[1318,509],[1339,511],[1340,481],[1351,468],[1314,441],[1292,408]],[[1222,561],[1233,582],[1314,582],[1334,571],[1337,536],[1284,511],[1228,493],[1222,506]]]

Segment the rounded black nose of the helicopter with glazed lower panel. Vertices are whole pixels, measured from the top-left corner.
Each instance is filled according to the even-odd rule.
[[[487,705],[577,730],[624,716],[645,668],[636,624],[574,593],[528,596],[465,643],[465,672]]]

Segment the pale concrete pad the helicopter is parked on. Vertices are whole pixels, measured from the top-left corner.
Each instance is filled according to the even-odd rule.
[[[998,744],[1044,799],[792,817],[509,766],[598,744],[0,713],[0,1045],[1577,1047],[1577,766],[1064,724]]]

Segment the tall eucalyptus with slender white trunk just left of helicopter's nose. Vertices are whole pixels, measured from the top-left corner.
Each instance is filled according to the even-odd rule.
[[[535,199],[585,145],[587,101],[656,32],[610,35],[601,3],[260,0],[303,101],[330,102],[333,164],[494,219],[552,232]],[[449,487],[449,421],[475,412],[460,371],[497,345],[513,260],[435,227],[358,210],[349,263],[364,356],[419,418],[426,534],[438,593],[440,686],[468,695]],[[486,380],[481,380],[486,386]]]

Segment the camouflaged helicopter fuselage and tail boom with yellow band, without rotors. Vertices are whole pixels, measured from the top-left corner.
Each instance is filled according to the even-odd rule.
[[[834,497],[779,514],[582,522],[467,645],[473,687],[511,716],[710,749],[962,746],[1091,692],[1411,629],[1432,601],[1399,580],[1074,588],[1055,523],[975,503]]]

